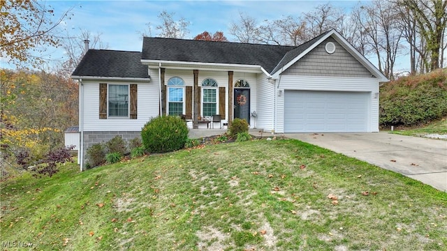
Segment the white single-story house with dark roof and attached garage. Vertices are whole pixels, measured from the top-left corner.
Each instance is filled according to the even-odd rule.
[[[151,117],[184,115],[283,132],[378,132],[388,79],[337,31],[299,46],[143,38],[142,52],[88,50],[78,79],[81,167],[86,149],[140,136]]]

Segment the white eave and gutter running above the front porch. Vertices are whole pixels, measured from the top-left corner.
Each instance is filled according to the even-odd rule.
[[[203,63],[203,62],[184,62],[184,61],[166,61],[166,60],[149,60],[142,59],[142,64],[149,68],[177,69],[177,70],[217,70],[244,73],[266,73],[261,66],[258,65],[242,65],[235,63]]]

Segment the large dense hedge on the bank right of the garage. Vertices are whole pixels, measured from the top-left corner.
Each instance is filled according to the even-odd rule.
[[[417,126],[447,116],[447,71],[402,77],[380,90],[381,126]]]

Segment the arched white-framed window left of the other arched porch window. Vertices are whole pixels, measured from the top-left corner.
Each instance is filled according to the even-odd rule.
[[[168,80],[168,114],[184,114],[184,81],[180,77],[171,77]]]

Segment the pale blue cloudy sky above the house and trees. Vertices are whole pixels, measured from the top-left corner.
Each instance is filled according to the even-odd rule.
[[[314,10],[318,5],[330,2],[332,6],[349,12],[359,3],[354,0],[344,1],[55,1],[45,3],[55,10],[55,16],[61,15],[72,8],[69,19],[64,21],[61,28],[65,33],[75,34],[82,30],[92,34],[101,33],[101,41],[108,45],[109,50],[141,51],[141,33],[147,32],[147,24],[152,24],[152,36],[158,31],[154,26],[159,24],[159,13],[166,10],[175,13],[174,19],[184,17],[191,24],[189,36],[193,38],[198,33],[209,31],[223,31],[228,40],[234,40],[229,33],[230,24],[239,20],[239,13],[247,13],[258,22],[263,20],[277,20],[283,16],[298,17],[302,13]],[[60,61],[64,56],[61,48],[50,48],[47,54],[52,59]],[[374,59],[370,59],[374,63]],[[53,63],[54,63],[53,62]],[[1,65],[7,66],[6,59],[1,59]],[[375,64],[375,63],[374,63]],[[51,63],[50,63],[51,65]],[[397,66],[396,68],[402,68]]]

